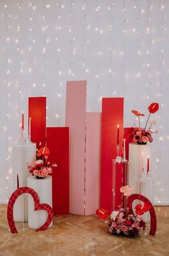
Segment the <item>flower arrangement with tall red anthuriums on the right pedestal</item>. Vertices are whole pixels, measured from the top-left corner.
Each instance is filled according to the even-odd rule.
[[[152,127],[155,126],[156,120],[153,119],[150,121],[150,126],[147,129],[147,124],[150,119],[150,115],[157,112],[159,108],[158,103],[151,103],[150,106],[147,108],[149,111],[149,116],[147,117],[147,121],[144,128],[141,128],[140,125],[140,116],[145,116],[145,114],[141,114],[140,111],[132,110],[132,113],[138,117],[139,120],[139,127],[132,127],[129,131],[130,136],[133,138],[133,142],[137,142],[138,144],[146,144],[147,142],[152,142]]]

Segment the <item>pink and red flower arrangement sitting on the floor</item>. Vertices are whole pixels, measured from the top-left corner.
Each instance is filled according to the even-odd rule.
[[[141,215],[134,216],[128,209],[114,210],[108,219],[109,232],[111,234],[123,234],[137,236],[139,231],[145,230],[145,221]]]

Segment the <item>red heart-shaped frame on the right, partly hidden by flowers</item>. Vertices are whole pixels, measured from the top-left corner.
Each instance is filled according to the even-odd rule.
[[[157,229],[157,219],[156,219],[156,215],[155,215],[155,209],[153,208],[152,203],[150,202],[150,200],[147,199],[147,197],[144,197],[143,195],[140,195],[140,194],[129,195],[129,197],[127,198],[127,208],[129,208],[129,210],[131,211],[132,214],[133,214],[132,202],[134,200],[141,200],[142,202],[145,202],[145,205],[143,206],[143,208],[141,210],[143,210],[143,213],[147,212],[149,210],[149,212],[150,212],[150,234],[152,236],[154,236],[156,229]],[[136,210],[139,210],[141,208],[141,206],[137,205]]]

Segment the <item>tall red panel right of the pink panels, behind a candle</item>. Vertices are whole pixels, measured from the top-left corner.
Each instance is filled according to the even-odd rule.
[[[124,98],[103,98],[101,120],[101,208],[112,210],[112,159],[117,157],[117,124],[119,154],[122,155]],[[122,182],[119,168],[117,188]],[[121,198],[120,198],[121,202]]]

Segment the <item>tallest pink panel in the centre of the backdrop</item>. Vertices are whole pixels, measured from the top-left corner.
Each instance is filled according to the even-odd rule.
[[[67,82],[65,125],[70,131],[70,213],[84,214],[86,81]]]

